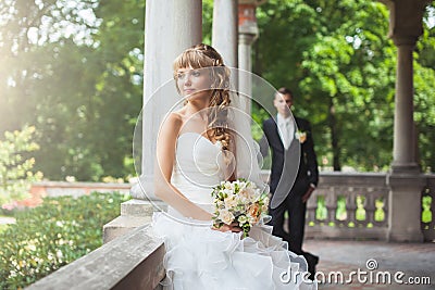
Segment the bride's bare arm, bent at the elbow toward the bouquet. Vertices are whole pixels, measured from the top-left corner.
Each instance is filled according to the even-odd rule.
[[[176,140],[183,121],[172,113],[165,119],[157,140],[157,159],[154,166],[156,196],[187,217],[199,220],[211,220],[211,214],[190,202],[176,187],[171,184],[174,168]]]

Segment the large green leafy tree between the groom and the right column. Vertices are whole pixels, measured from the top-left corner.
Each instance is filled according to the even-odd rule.
[[[318,104],[327,105],[324,130],[335,171],[343,164],[386,168],[391,161],[395,75],[394,46],[385,37],[387,10],[374,1],[320,4],[319,25],[327,28],[303,52],[306,72],[299,88],[302,96],[321,96]]]

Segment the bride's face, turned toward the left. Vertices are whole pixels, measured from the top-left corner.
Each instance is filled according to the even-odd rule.
[[[179,68],[177,71],[177,86],[187,100],[210,97],[210,72],[208,68]]]

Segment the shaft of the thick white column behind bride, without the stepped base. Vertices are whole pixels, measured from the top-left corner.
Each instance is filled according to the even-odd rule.
[[[173,81],[176,55],[202,39],[201,0],[147,0],[141,173],[132,197],[153,198],[156,141],[164,115],[181,105]]]

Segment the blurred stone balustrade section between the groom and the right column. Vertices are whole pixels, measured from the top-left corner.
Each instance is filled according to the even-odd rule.
[[[307,237],[384,240],[388,192],[386,174],[322,174],[307,204]]]

